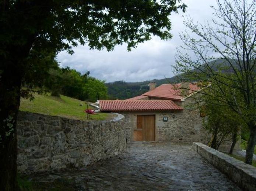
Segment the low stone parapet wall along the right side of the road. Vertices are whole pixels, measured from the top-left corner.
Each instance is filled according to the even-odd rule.
[[[202,143],[193,143],[192,148],[210,164],[227,175],[239,187],[247,191],[256,190],[256,168],[229,157],[224,153],[207,147]]]

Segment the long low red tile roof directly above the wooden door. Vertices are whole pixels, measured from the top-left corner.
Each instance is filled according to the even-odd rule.
[[[100,100],[101,111],[183,110],[172,100]]]

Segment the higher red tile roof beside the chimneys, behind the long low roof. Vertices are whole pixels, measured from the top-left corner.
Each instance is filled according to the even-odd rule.
[[[166,99],[173,99],[173,100],[181,100],[184,96],[180,95],[180,84],[162,84],[155,89],[143,93],[144,96],[155,97],[155,98],[166,98]],[[189,93],[193,93],[200,88],[196,84],[189,84]]]

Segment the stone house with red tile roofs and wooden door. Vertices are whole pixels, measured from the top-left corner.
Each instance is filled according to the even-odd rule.
[[[100,100],[101,112],[125,115],[127,142],[172,141],[202,142],[206,144],[211,135],[203,128],[204,115],[191,107],[194,97],[199,96],[196,84],[162,84],[150,91],[126,100]],[[182,87],[179,89],[177,87]],[[184,96],[182,96],[184,95]]]

